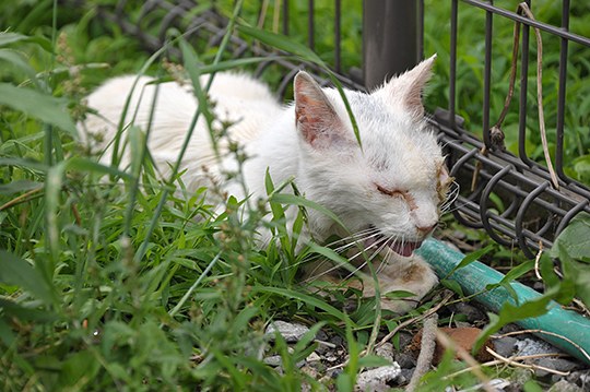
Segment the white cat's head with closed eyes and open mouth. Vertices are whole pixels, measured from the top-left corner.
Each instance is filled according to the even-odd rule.
[[[410,256],[436,226],[451,178],[424,120],[422,90],[435,57],[371,94],[346,91],[362,147],[340,94],[295,78],[300,170],[309,199],[334,212],[366,247]],[[333,226],[315,214],[311,227]]]

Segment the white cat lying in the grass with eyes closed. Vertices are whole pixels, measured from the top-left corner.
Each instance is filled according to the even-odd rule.
[[[441,149],[423,118],[421,94],[434,60],[435,56],[371,94],[345,91],[362,147],[338,91],[321,88],[305,72],[296,75],[295,103],[287,107],[280,105],[264,84],[244,74],[220,73],[209,91],[215,117],[233,123],[229,139],[243,144],[251,157],[244,165],[248,193],[255,200],[266,197],[267,168],[274,183],[294,177],[307,199],[335,213],[354,233],[347,242],[365,248],[365,258],[354,258],[353,264],[366,272],[366,256],[375,260],[380,293],[409,290],[416,295],[414,301],[437,282],[430,268],[413,251],[436,226],[451,182]],[[115,138],[134,80],[111,80],[90,95],[88,106],[101,116],[88,115],[81,129],[83,133],[102,133],[105,142],[101,147]],[[125,124],[132,121],[146,128],[156,91],[148,82],[150,79],[140,78]],[[148,145],[165,177],[176,162],[196,110],[190,88],[174,82],[158,86]],[[222,142],[221,149],[224,155],[227,145]],[[110,150],[108,146],[105,162],[110,162]],[[121,165],[128,162],[126,153]],[[182,180],[189,190],[208,185],[203,166],[208,167],[208,176],[222,180],[222,168],[235,168],[237,163],[232,157],[217,162],[201,116],[180,166],[186,170]],[[227,183],[227,190],[238,199],[246,197],[236,183]],[[326,214],[312,209],[308,214],[304,239],[322,241],[334,234],[346,235]],[[291,207],[287,219],[295,215],[296,209]],[[287,222],[287,227],[292,223]],[[358,247],[342,247],[346,248],[358,253]],[[331,264],[317,262],[308,266],[307,273],[338,280],[332,270]],[[373,278],[363,276],[350,284],[363,289],[365,296],[375,295]],[[385,298],[381,302],[394,311],[411,306]]]

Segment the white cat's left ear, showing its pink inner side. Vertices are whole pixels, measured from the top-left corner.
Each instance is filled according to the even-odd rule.
[[[295,123],[303,140],[315,149],[326,149],[345,136],[330,99],[304,71],[295,76]]]

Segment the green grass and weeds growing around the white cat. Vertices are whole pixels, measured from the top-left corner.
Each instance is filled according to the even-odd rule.
[[[299,2],[291,3],[292,14],[305,13]],[[232,8],[222,5],[231,15]],[[130,14],[133,7],[139,5],[131,4]],[[251,7],[246,2],[241,15],[256,24]],[[130,131],[139,146],[130,170],[98,164],[72,136],[84,115],[83,97],[113,75],[142,68],[165,75],[165,67],[160,59],[151,63],[116,25],[98,22],[92,8],[16,1],[2,3],[0,15],[2,28],[20,34],[0,35],[0,388],[298,391],[310,383],[314,390],[351,390],[358,369],[370,361],[359,353],[374,343],[379,316],[370,300],[344,313],[343,304],[359,301],[354,290],[334,290],[335,299],[328,300],[298,285],[304,260],[330,254],[320,247],[297,253],[296,238],[287,235],[284,209],[309,203],[275,195],[241,214],[244,201],[220,195],[226,209],[216,216],[204,189],[186,191],[178,175],[156,178],[139,130]],[[294,40],[276,45],[312,58],[300,47],[304,19],[295,21]],[[352,26],[344,64],[357,66],[359,13],[346,13],[343,23]],[[331,27],[321,26],[318,56],[330,61]],[[184,50],[185,61],[191,59],[184,69],[192,76],[199,72],[194,61],[214,67],[227,58],[219,48],[201,54],[170,45]],[[473,75],[480,66],[465,70]],[[437,68],[432,99],[438,96],[437,105],[444,105],[445,61]],[[461,97],[469,100],[469,92]],[[480,109],[463,107],[476,123]],[[291,185],[269,180],[270,190],[281,186]],[[275,236],[259,249],[252,237],[263,216]],[[436,293],[415,312],[377,326],[392,330],[435,301]],[[311,380],[296,364],[315,348],[312,334],[293,352],[281,340],[269,344],[263,331],[276,319],[342,335],[351,364],[335,380]],[[263,364],[262,349],[282,356],[283,375]],[[450,359],[446,366],[457,367]],[[440,377],[430,375],[432,388]],[[455,383],[476,381],[469,373],[463,378]]]

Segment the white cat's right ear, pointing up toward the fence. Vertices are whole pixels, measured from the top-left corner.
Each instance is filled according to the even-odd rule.
[[[404,109],[409,110],[415,120],[424,116],[422,104],[422,91],[432,75],[432,69],[436,55],[422,61],[410,71],[393,78],[384,88],[397,102],[401,102]]]

